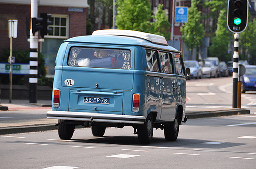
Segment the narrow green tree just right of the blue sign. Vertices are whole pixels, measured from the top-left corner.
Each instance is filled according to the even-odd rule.
[[[197,9],[197,0],[191,1],[191,7],[188,9],[188,22],[181,27],[182,38],[187,48],[190,50],[189,58],[192,59],[192,51],[202,44],[204,37],[204,27],[201,22],[201,12]]]

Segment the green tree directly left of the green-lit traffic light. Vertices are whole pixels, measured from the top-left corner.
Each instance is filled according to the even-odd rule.
[[[228,44],[231,40],[232,34],[227,29],[227,11],[225,9],[220,11],[217,22],[217,30],[215,37],[212,38],[212,45],[209,47],[209,55],[211,57],[218,57],[220,60],[226,60],[224,57],[228,51]]]

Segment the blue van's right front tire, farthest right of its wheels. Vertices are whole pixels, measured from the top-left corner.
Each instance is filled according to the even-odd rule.
[[[175,141],[179,134],[179,118],[175,117],[174,121],[164,126],[164,137],[166,141]]]

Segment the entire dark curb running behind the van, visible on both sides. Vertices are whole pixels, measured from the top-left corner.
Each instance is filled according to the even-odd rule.
[[[208,118],[218,116],[230,116],[239,114],[250,114],[250,110],[246,109],[234,109],[226,111],[201,111],[201,112],[187,112],[186,116],[188,119],[197,118]],[[76,128],[82,128],[83,126],[77,126]],[[19,127],[5,127],[0,128],[0,135],[4,134],[16,134],[16,133],[27,133],[27,132],[38,132],[56,130],[58,127],[55,124],[42,124],[42,125],[31,125],[31,126],[19,126]]]

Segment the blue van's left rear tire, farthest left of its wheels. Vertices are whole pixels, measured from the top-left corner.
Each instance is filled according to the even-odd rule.
[[[63,123],[65,120],[59,120],[58,123]],[[75,131],[74,124],[63,123],[58,126],[58,134],[60,139],[69,140],[72,138]]]

